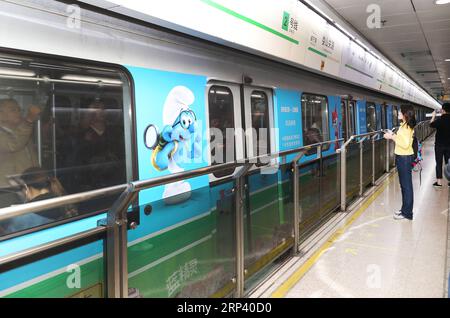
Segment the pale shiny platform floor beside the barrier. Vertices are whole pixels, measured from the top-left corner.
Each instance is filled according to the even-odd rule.
[[[317,259],[285,297],[445,297],[448,187],[434,189],[434,137],[414,173],[414,220],[401,207],[398,176]]]

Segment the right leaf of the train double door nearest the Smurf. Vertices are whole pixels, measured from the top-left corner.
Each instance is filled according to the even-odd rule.
[[[243,118],[247,158],[275,152],[273,93],[271,89],[243,86]],[[258,159],[246,178],[245,268],[254,272],[277,257],[284,233],[281,169],[275,161]],[[269,165],[270,164],[270,165]],[[269,165],[269,166],[268,166]],[[270,238],[270,239],[268,239]],[[248,287],[248,285],[246,285]]]

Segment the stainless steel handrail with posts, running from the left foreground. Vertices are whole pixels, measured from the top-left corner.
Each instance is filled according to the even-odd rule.
[[[325,141],[321,143],[316,143],[312,145],[303,146],[297,149],[280,151],[277,153],[265,154],[253,158],[246,158],[242,160],[237,160],[230,163],[219,164],[215,166],[208,166],[196,170],[184,171],[177,174],[171,174],[159,178],[144,180],[144,181],[133,181],[125,185],[119,185],[110,188],[104,188],[94,191],[89,191],[80,194],[74,194],[66,197],[49,199],[45,201],[40,201],[36,203],[29,203],[20,206],[13,206],[9,208],[0,209],[0,220],[6,220],[12,217],[25,215],[28,213],[33,213],[36,211],[48,209],[48,208],[56,208],[59,206],[63,206],[66,204],[74,204],[79,203],[85,200],[91,200],[98,197],[111,195],[115,193],[119,193],[122,191],[119,198],[114,202],[107,213],[107,226],[104,227],[96,227],[90,229],[86,232],[80,232],[71,236],[67,236],[58,240],[54,240],[27,250],[22,250],[16,253],[8,254],[4,257],[0,258],[0,265],[4,265],[6,263],[10,263],[13,261],[18,261],[23,258],[26,258],[30,255],[35,255],[37,253],[45,252],[51,248],[63,246],[67,243],[72,243],[79,241],[81,239],[86,238],[87,236],[91,236],[98,233],[103,233],[106,231],[106,259],[108,263],[107,270],[107,289],[109,297],[127,297],[128,293],[128,280],[127,280],[127,209],[131,202],[137,197],[137,193],[142,190],[149,189],[156,186],[161,186],[173,182],[177,182],[180,180],[190,179],[202,175],[211,174],[214,172],[218,172],[225,169],[230,168],[240,168],[240,170],[233,175],[233,178],[236,180],[235,189],[236,193],[236,204],[238,207],[242,208],[242,199],[243,199],[243,179],[242,177],[246,174],[246,172],[252,167],[255,163],[263,159],[275,159],[286,157],[291,154],[298,154],[293,160],[293,169],[294,175],[298,176],[298,161],[302,157],[302,155],[313,148],[318,148],[319,151],[322,151],[322,147],[324,145],[342,142],[343,139],[336,139]],[[267,166],[267,165],[266,165]],[[264,167],[260,167],[263,169]],[[270,165],[269,165],[270,166]],[[298,189],[298,181],[297,189]],[[297,198],[298,199],[298,198]],[[298,201],[298,200],[297,200]],[[297,213],[299,209],[296,209]],[[236,213],[236,223],[238,223],[239,215],[242,216],[242,213]],[[296,216],[296,220],[299,219],[299,216]],[[240,232],[243,232],[243,228],[240,229]],[[298,231],[297,236],[298,236]],[[243,236],[243,233],[241,233]],[[242,241],[242,240],[241,240]],[[238,244],[238,242],[237,242]],[[295,245],[297,247],[297,245]],[[243,249],[241,254],[243,253]],[[243,255],[240,257],[240,268],[243,269]],[[238,273],[238,286],[240,286],[239,290],[241,293],[243,292],[243,282],[244,282],[244,274]],[[239,294],[239,292],[238,292]]]

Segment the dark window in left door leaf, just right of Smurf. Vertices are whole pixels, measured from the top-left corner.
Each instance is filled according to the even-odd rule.
[[[236,159],[234,140],[234,102],[233,93],[225,86],[212,86],[208,94],[209,127],[211,133],[211,164],[217,165]],[[231,128],[231,129],[230,129]],[[227,131],[228,129],[228,131]],[[233,173],[219,171],[216,178]]]

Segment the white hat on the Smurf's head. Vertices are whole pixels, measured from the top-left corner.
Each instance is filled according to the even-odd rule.
[[[163,108],[163,124],[172,125],[183,110],[188,110],[195,101],[192,91],[185,86],[174,87],[167,95]]]

